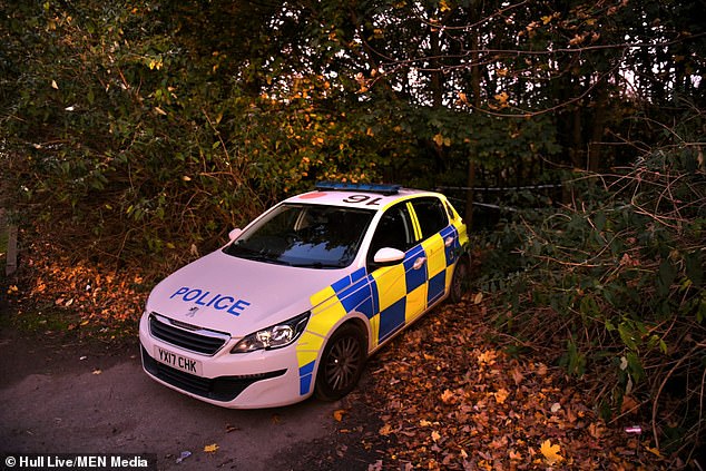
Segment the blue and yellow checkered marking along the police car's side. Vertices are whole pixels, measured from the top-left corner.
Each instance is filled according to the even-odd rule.
[[[421,230],[420,230],[421,233]],[[452,242],[445,245],[447,238]],[[311,297],[312,316],[306,332],[297,342],[300,365],[300,394],[312,391],[312,380],[318,353],[324,340],[343,317],[359,312],[367,317],[372,333],[372,347],[388,340],[411,323],[424,310],[437,303],[448,291],[465,233],[460,234],[450,225],[412,247],[400,265],[379,268],[367,274],[359,268]],[[424,257],[424,266],[413,268],[414,262]],[[383,286],[380,283],[392,281]]]

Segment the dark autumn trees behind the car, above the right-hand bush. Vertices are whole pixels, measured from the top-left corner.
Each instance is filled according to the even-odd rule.
[[[13,189],[104,256],[317,179],[558,184],[703,136],[699,0],[2,4]]]

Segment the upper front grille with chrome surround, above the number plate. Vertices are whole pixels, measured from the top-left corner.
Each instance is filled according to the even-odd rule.
[[[153,337],[168,344],[204,355],[213,355],[231,340],[226,333],[198,328],[184,323],[176,324],[176,321],[158,314],[149,315],[149,333]]]

